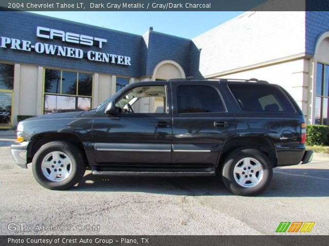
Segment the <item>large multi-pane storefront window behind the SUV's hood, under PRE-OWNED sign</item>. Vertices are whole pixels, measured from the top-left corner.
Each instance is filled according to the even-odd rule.
[[[90,110],[92,92],[92,74],[46,69],[44,114]]]

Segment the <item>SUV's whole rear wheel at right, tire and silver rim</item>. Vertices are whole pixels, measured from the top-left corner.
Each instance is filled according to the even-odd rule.
[[[225,160],[222,179],[234,194],[255,196],[269,186],[272,167],[268,157],[255,149],[237,150]]]

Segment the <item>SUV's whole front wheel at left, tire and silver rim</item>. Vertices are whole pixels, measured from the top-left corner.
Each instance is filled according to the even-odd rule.
[[[64,190],[74,186],[85,173],[81,151],[63,141],[48,142],[33,157],[33,175],[43,187]]]

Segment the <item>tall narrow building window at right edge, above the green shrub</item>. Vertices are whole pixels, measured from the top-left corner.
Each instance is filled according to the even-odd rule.
[[[315,124],[327,125],[329,103],[329,65],[317,64],[317,85],[315,98]]]

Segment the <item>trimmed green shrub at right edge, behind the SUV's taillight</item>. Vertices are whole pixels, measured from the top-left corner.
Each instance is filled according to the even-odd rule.
[[[328,134],[329,128],[327,126],[309,125],[306,128],[306,145],[328,145]]]

